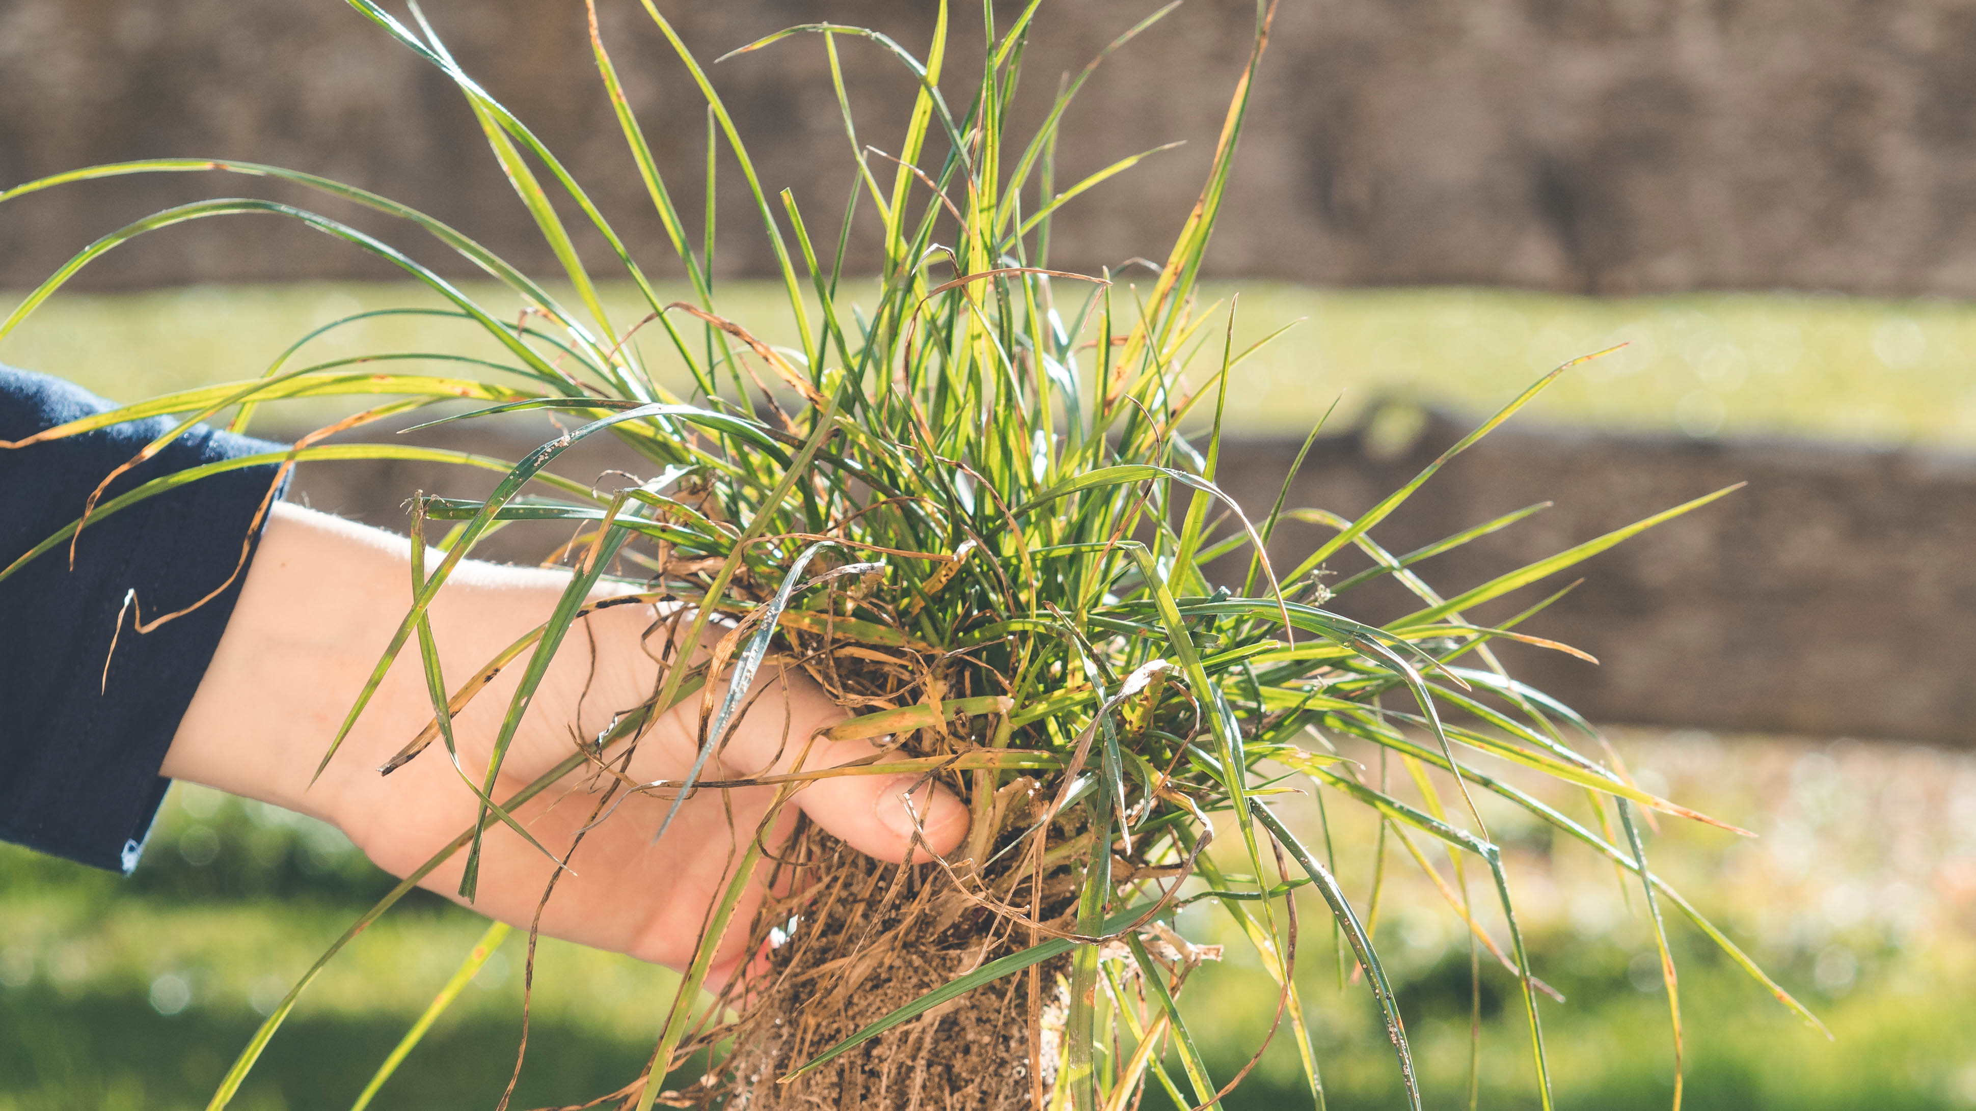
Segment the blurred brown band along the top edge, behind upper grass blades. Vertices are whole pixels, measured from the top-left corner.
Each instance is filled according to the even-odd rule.
[[[1154,6],[1045,4],[1028,51],[1031,114],[1059,73]],[[630,99],[698,221],[701,101],[632,0],[601,8]],[[664,8],[711,61],[765,32],[826,18],[921,49],[933,4]],[[656,223],[589,63],[583,4],[431,0],[427,10],[462,63],[658,259]],[[1188,146],[1065,209],[1055,262],[1091,268],[1164,253],[1197,189],[1251,14],[1247,0],[1192,0],[1099,71],[1065,128],[1059,182],[1166,140]],[[966,4],[954,20],[945,87],[964,101],[978,28]],[[842,49],[860,138],[895,148],[911,81],[871,43]],[[1966,0],[1290,0],[1213,264],[1322,284],[1970,296],[1972,61],[1976,6]],[[834,237],[848,140],[822,43],[737,57],[713,77],[765,184],[792,187],[810,227]],[[454,91],[338,0],[0,4],[0,182],[166,154],[342,178],[425,207],[532,268],[549,266]],[[751,201],[731,158],[723,162],[729,235],[717,266],[759,274],[771,264],[767,241],[749,227]],[[296,195],[182,176],[10,203],[0,209],[0,286],[40,280],[124,219],[235,191]],[[421,257],[464,270],[439,253]],[[83,282],[389,274],[354,249],[233,217],[121,249]]]

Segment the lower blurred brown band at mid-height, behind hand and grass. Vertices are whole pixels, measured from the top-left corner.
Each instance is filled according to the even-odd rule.
[[[514,418],[508,418],[514,420]],[[1286,507],[1354,517],[1454,444],[1470,424],[1403,405],[1316,442]],[[518,458],[555,436],[532,422],[449,424],[437,446]],[[605,438],[559,470],[611,487],[607,472],[650,470]],[[1296,458],[1294,440],[1223,446],[1219,483],[1257,517]],[[415,489],[480,497],[494,474],[421,464],[304,466],[292,497],[373,525],[405,527]],[[1512,673],[1601,722],[1729,732],[1976,742],[1976,458],[1826,448],[1784,440],[1614,436],[1502,428],[1450,462],[1375,529],[1403,555],[1514,509],[1553,505],[1415,566],[1442,596],[1591,541],[1713,489],[1749,485],[1579,568],[1468,614],[1502,622],[1583,576],[1522,631],[1581,647],[1601,665],[1500,643]],[[537,560],[567,525],[512,525],[480,549]],[[1271,547],[1292,568],[1330,531],[1284,521]],[[1340,582],[1369,558],[1340,553]],[[1229,562],[1223,578],[1245,568]],[[1391,578],[1334,608],[1391,620],[1419,602]]]

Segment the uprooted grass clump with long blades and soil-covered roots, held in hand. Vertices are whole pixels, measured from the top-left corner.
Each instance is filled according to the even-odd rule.
[[[1537,995],[1547,989],[1529,967],[1510,878],[1472,801],[1476,791],[1535,813],[1638,884],[1660,937],[1676,1070],[1680,1006],[1660,929],[1664,906],[1684,912],[1796,1006],[1646,866],[1636,831],[1642,807],[1711,819],[1654,797],[1622,772],[1583,756],[1567,730],[1589,740],[1597,732],[1512,679],[1490,653],[1498,639],[1565,649],[1514,628],[1545,602],[1498,626],[1466,618],[1725,491],[1454,596],[1433,590],[1413,564],[1520,515],[1405,556],[1375,543],[1371,531],[1381,519],[1565,367],[1541,377],[1356,519],[1322,509],[1286,511],[1284,495],[1267,509],[1243,507],[1215,485],[1221,407],[1251,349],[1233,347],[1235,306],[1201,304],[1195,280],[1269,39],[1273,2],[1257,6],[1255,49],[1237,77],[1197,205],[1156,278],[1126,286],[1111,274],[1049,266],[1051,221],[1075,213],[1063,205],[1101,203],[1083,193],[1136,158],[1067,187],[1055,178],[1063,112],[1111,49],[1063,85],[1029,138],[1012,136],[1018,69],[1037,4],[1008,26],[998,26],[994,8],[984,6],[986,61],[966,101],[945,95],[952,85],[945,73],[950,34],[945,4],[925,57],[885,36],[824,24],[743,47],[788,49],[782,39],[806,34],[828,51],[858,160],[832,245],[812,233],[790,189],[771,195],[759,182],[705,69],[652,2],[642,0],[705,93],[709,152],[725,144],[741,166],[781,264],[792,332],[800,337],[794,347],[763,343],[749,322],[721,316],[707,268],[711,219],[696,241],[624,103],[611,55],[595,34],[595,12],[597,69],[694,288],[690,302],[664,302],[656,294],[561,162],[458,69],[423,18],[407,26],[370,0],[350,2],[464,93],[526,211],[563,262],[575,306],[561,304],[466,235],[364,189],[271,166],[148,160],[32,182],[0,199],[113,174],[219,170],[277,178],[439,239],[504,282],[524,314],[516,318],[514,306],[484,306],[401,249],[328,217],[261,199],[211,199],[97,241],[30,294],[0,324],[0,335],[77,268],[156,227],[237,213],[302,221],[417,276],[454,308],[403,312],[458,318],[496,339],[506,361],[373,353],[308,363],[312,333],[257,379],[130,405],[57,434],[160,412],[204,420],[229,408],[231,424],[245,428],[263,405],[330,395],[385,401],[326,432],[460,399],[480,407],[447,420],[530,408],[585,418],[514,464],[405,444],[322,444],[322,436],[275,456],[285,462],[419,458],[504,472],[482,499],[419,499],[415,533],[423,535],[431,521],[454,525],[441,545],[445,558],[421,568],[423,586],[371,687],[405,645],[417,643],[431,663],[425,608],[456,562],[494,529],[514,521],[581,523],[579,541],[565,549],[579,555],[577,574],[565,604],[535,637],[534,665],[514,695],[486,772],[488,789],[535,681],[601,576],[634,580],[648,598],[690,602],[674,659],[694,659],[696,647],[715,637],[719,645],[711,663],[674,667],[658,695],[595,746],[573,746],[559,768],[514,797],[484,803],[480,823],[399,884],[304,975],[241,1054],[213,1097],[215,1107],[237,1091],[316,971],[419,878],[466,852],[460,894],[472,898],[486,827],[510,821],[508,809],[573,772],[615,760],[636,744],[644,720],[725,671],[735,679],[735,695],[703,716],[703,764],[723,742],[747,677],[771,653],[794,661],[858,710],[860,716],[834,730],[838,738],[893,738],[848,774],[917,772],[947,783],[970,807],[968,843],[929,868],[911,856],[893,864],[865,860],[818,829],[800,829],[796,843],[775,856],[749,837],[727,896],[713,908],[698,955],[664,1010],[652,1064],[607,1101],[640,1111],[658,1099],[735,1107],[806,1099],[881,1103],[935,1083],[943,1087],[939,1099],[980,1107],[1128,1107],[1148,1085],[1160,1085],[1178,1105],[1217,1105],[1247,1070],[1209,1075],[1195,1050],[1176,997],[1188,971],[1211,953],[1170,926],[1182,906],[1205,900],[1231,918],[1275,981],[1275,1030],[1294,1042],[1312,1101],[1322,1105],[1320,1062],[1294,977],[1298,941],[1312,933],[1308,924],[1300,931],[1296,892],[1312,888],[1318,896],[1312,906],[1324,908],[1334,939],[1350,951],[1354,977],[1363,979],[1369,1004],[1381,1012],[1409,1101],[1419,1107],[1405,1026],[1379,953],[1359,908],[1332,874],[1340,847],[1328,827],[1322,851],[1306,845],[1282,815],[1308,809],[1322,825],[1324,805],[1356,805],[1375,811],[1379,837],[1395,833],[1437,880],[1435,862],[1409,833],[1427,835],[1448,852],[1456,882],[1444,890],[1472,937],[1472,975],[1480,977],[1484,963],[1500,963],[1514,977],[1529,1026],[1529,1068],[1549,1105],[1537,1010]],[[1114,47],[1164,12],[1124,30]],[[840,65],[840,49],[852,47],[903,65],[919,81],[895,156],[860,146]],[[709,197],[717,162],[707,158]],[[642,320],[609,318],[549,201],[551,187],[581,211],[615,262],[644,290]],[[856,221],[875,221],[881,229],[883,262],[871,306],[840,296]],[[694,387],[686,395],[658,385],[646,345],[688,367]],[[443,367],[431,371],[421,363]],[[654,478],[599,493],[551,470],[575,442],[605,432],[640,452]],[[91,519],[206,472],[257,462],[267,460],[156,480],[95,505]],[[1330,525],[1334,535],[1294,564],[1278,566],[1269,547],[1286,515]],[[26,558],[59,547],[79,527],[85,523]],[[1326,562],[1348,547],[1371,555],[1375,572],[1326,586]],[[1421,606],[1385,626],[1358,624],[1324,608],[1336,590],[1371,574],[1395,576]],[[368,697],[370,691],[352,706],[346,732]],[[435,679],[439,716],[429,732],[445,732],[449,697],[456,708],[458,693],[437,687]],[[1397,762],[1419,787],[1425,809],[1389,795],[1342,760],[1332,746],[1342,736],[1369,742]],[[334,750],[330,744],[324,760]],[[1597,829],[1474,768],[1466,756],[1474,752],[1585,787]],[[781,778],[781,797],[786,801],[790,789],[816,776]],[[684,797],[700,785],[698,778],[700,766],[682,781],[634,789]],[[607,791],[622,787],[607,783]],[[1310,807],[1306,793],[1320,805]],[[1217,835],[1223,845],[1207,852]],[[1468,902],[1466,870],[1476,866],[1490,874],[1488,886],[1500,902],[1502,939]],[[737,920],[733,910],[757,870],[775,872],[777,890],[796,894],[771,900],[753,922]],[[705,1000],[709,961],[731,931],[773,945],[769,959]],[[476,959],[468,955],[468,967]],[[368,1091],[389,1075],[429,1018]],[[931,1030],[943,1022],[948,1032],[933,1038]],[[662,1077],[688,1060],[713,1064],[701,1081],[662,1093]]]

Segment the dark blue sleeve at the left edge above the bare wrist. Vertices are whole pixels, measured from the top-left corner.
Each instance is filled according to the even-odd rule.
[[[111,403],[61,379],[0,367],[0,440],[14,442]],[[227,628],[241,578],[148,633],[146,622],[227,582],[253,543],[273,464],[215,474],[117,513],[20,562],[75,521],[89,491],[172,418],[0,448],[0,839],[128,872],[164,801],[164,752]],[[119,478],[138,485],[229,458],[279,452],[206,426]],[[99,503],[101,505],[101,503]],[[251,553],[249,553],[251,555]],[[121,631],[119,631],[121,630]],[[111,639],[115,635],[115,655]]]

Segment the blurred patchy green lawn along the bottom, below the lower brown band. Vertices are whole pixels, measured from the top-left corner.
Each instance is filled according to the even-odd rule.
[[[1642,785],[1759,833],[1743,841],[1664,819],[1656,870],[1836,1038],[1804,1026],[1676,924],[1686,1105],[1976,1107],[1976,758],[1701,734],[1622,732],[1616,742]],[[1549,795],[1583,813],[1569,791]],[[1308,803],[1282,809],[1318,835]],[[1373,829],[1346,807],[1334,817],[1340,878],[1363,912]],[[1484,817],[1506,847],[1535,967],[1569,999],[1543,1008],[1559,1105],[1666,1107],[1666,997],[1644,955],[1636,890],[1514,813]],[[1446,874],[1444,858],[1441,868]],[[334,831],[198,787],[174,789],[128,880],[0,847],[0,1109],[204,1107],[261,1012],[383,888]],[[1474,892],[1486,908],[1486,884]],[[1492,920],[1486,910],[1482,918]],[[1302,922],[1298,975],[1328,1105],[1401,1105],[1363,985],[1338,983],[1316,900],[1302,904]],[[237,1105],[348,1107],[482,926],[439,898],[407,900],[310,989]],[[1197,939],[1223,931],[1205,908],[1186,912],[1182,927]],[[1377,939],[1429,1105],[1464,1105],[1468,949],[1397,845]],[[522,939],[512,937],[375,1107],[490,1107],[514,1064],[520,975]],[[670,973],[543,943],[518,1105],[585,1099],[634,1075],[670,987]],[[1529,1107],[1514,983],[1484,967],[1482,989],[1484,1107]],[[1227,1077],[1267,1030],[1275,991],[1259,969],[1231,959],[1199,973],[1186,1006]],[[1278,1044],[1229,1107],[1296,1107],[1296,1075]]]

